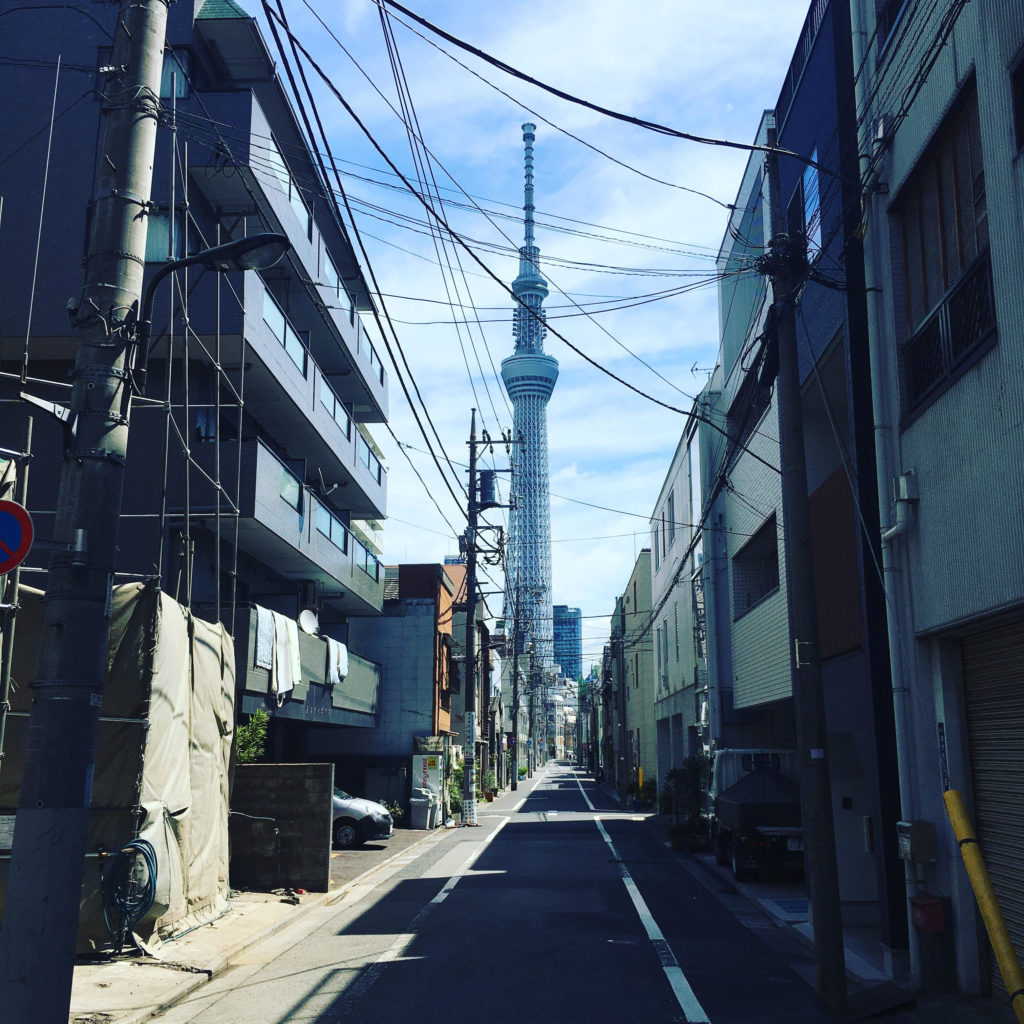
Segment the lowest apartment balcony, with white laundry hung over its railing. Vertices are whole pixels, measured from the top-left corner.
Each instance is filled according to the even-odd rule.
[[[299,659],[302,679],[288,694],[281,708],[270,694],[270,673],[256,668],[256,608],[242,609],[239,616],[236,651],[239,658],[237,678],[243,691],[242,710],[252,714],[257,709],[273,709],[282,718],[323,722],[330,725],[377,725],[381,667],[358,654],[348,652],[348,675],[340,685],[327,685],[327,641],[299,630]],[[245,666],[245,671],[242,667]]]

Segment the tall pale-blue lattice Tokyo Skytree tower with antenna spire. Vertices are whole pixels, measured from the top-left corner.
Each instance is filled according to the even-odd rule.
[[[509,513],[505,616],[518,621],[521,636],[532,639],[538,664],[552,664],[551,499],[548,496],[548,399],[558,379],[558,360],[544,352],[544,299],[548,286],[538,270],[541,250],[534,245],[534,132],[522,126],[526,186],[525,239],[519,249],[519,275],[512,292],[519,299],[512,321],[515,353],[502,360],[502,380],[512,399],[512,493]],[[524,308],[525,307],[525,308]]]

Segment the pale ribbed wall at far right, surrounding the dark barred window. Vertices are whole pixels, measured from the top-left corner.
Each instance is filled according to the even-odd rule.
[[[866,0],[853,3],[861,40],[876,29],[874,6]],[[984,804],[982,791],[992,781],[985,767],[991,739],[983,742],[975,736],[977,745],[972,744],[965,709],[970,702],[977,713],[977,694],[965,651],[986,631],[998,638],[997,628],[1005,622],[1013,632],[1012,616],[1024,607],[1024,520],[1019,514],[1024,508],[1024,164],[1014,120],[1015,113],[1021,115],[1020,80],[1015,84],[1014,79],[1022,44],[1024,10],[1019,4],[982,0],[934,10],[907,5],[891,38],[863,53],[858,94],[862,152],[877,157],[877,184],[865,208],[865,247],[872,289],[872,370],[883,406],[880,422],[889,428],[879,437],[880,486],[888,489],[895,477],[912,473],[920,495],[899,507],[889,499],[881,503],[884,528],[897,521],[897,513],[906,519],[905,529],[892,539],[893,564],[887,573],[893,674],[900,684],[896,699],[906,716],[899,748],[902,813],[936,826],[937,859],[919,868],[920,885],[950,896],[957,983],[969,991],[985,987],[989,965],[986,954],[979,953],[985,943],[978,935],[973,897],[941,795],[953,787],[969,804],[976,799]],[[974,190],[966,211],[969,223],[980,222],[984,213],[996,336],[930,403],[912,408],[901,360],[910,333],[901,204],[916,187],[914,175],[948,138],[947,119],[972,82],[984,206],[975,204],[977,181],[971,181]],[[942,301],[953,291],[955,286]],[[981,308],[977,302],[974,307]],[[1008,667],[1004,692],[1013,693],[1019,672],[1011,668],[1007,644],[996,639],[988,665],[996,667],[1002,659]],[[1024,715],[1012,706],[1000,718],[996,724],[1008,736],[1024,729]],[[987,846],[993,860],[993,877],[1020,849],[1015,823],[1024,811],[1024,782],[1009,767],[1014,761],[1007,759],[997,773],[1006,785],[1001,813],[979,828],[982,848]],[[1011,874],[1019,879],[1019,865]],[[1000,887],[997,897],[1013,919],[1019,945],[1024,930],[1018,888]]]

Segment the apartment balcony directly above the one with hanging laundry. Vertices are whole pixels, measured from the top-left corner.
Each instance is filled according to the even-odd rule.
[[[196,461],[213,476],[213,445],[194,445]],[[347,529],[342,515],[330,509],[305,486],[297,467],[287,465],[261,440],[224,443],[220,453],[221,479],[240,478],[239,547],[288,580],[321,584],[324,600],[351,614],[381,610],[384,580],[372,552]],[[194,507],[212,507],[212,484],[194,473]],[[325,519],[325,513],[328,518]],[[325,531],[325,523],[333,529]],[[222,520],[225,540],[233,536],[233,521]]]

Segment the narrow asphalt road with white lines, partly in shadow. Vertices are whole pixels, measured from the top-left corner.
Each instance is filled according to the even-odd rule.
[[[818,1024],[807,950],[552,764],[250,950],[166,1024]],[[739,900],[739,897],[732,897]],[[795,969],[796,968],[796,969]]]

